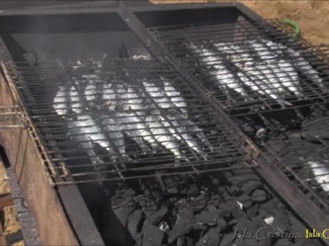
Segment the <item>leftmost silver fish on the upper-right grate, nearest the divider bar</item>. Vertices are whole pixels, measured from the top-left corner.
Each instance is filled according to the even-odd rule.
[[[216,71],[211,70],[210,73],[216,78],[217,85],[221,87],[221,89],[226,93],[229,94],[226,90],[226,86],[230,89],[238,92],[243,96],[243,98],[248,98],[247,92],[245,92],[245,89],[240,85],[238,79],[236,79],[230,70],[226,68],[225,64],[223,64],[223,59],[215,54],[212,53],[208,49],[199,49],[197,46],[192,45],[190,46],[195,53],[197,53],[207,66],[211,66],[212,68],[215,68]]]

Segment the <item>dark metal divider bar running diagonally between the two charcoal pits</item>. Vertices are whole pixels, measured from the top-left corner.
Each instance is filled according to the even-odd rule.
[[[254,20],[261,20],[259,16],[254,14],[251,10],[246,12],[246,8],[241,8],[242,5],[236,3],[236,7],[246,16],[250,16],[250,18]],[[255,171],[262,176],[264,180],[270,185],[271,189],[276,191],[278,195],[282,198],[282,200],[288,204],[297,215],[306,222],[306,224],[310,228],[314,228],[318,231],[323,231],[328,228],[329,219],[324,215],[324,213],[313,204],[312,201],[300,191],[300,189],[291,182],[285,176],[280,169],[269,160],[263,152],[261,152],[257,146],[241,131],[239,126],[237,126],[223,111],[219,103],[213,98],[211,92],[204,89],[200,86],[197,81],[193,77],[191,77],[184,69],[182,69],[181,64],[165,49],[161,44],[159,44],[156,39],[149,33],[149,31],[144,27],[143,23],[137,18],[131,10],[125,8],[124,3],[121,3],[118,8],[118,13],[121,18],[124,20],[125,24],[134,31],[136,36],[145,44],[147,49],[151,55],[154,55],[160,63],[164,64],[164,66],[169,65],[173,69],[176,70],[186,81],[191,83],[191,85],[203,96],[209,98],[210,104],[217,109],[217,111],[221,114],[224,120],[229,122],[234,130],[236,130],[245,141],[248,141],[252,149],[257,150],[260,154],[260,158],[257,161],[259,164],[258,168]],[[329,245],[329,241],[321,240],[326,244]]]

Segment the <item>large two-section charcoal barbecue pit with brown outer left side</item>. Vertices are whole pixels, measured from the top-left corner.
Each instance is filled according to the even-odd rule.
[[[1,115],[16,117],[15,124],[6,119],[0,140],[23,177],[42,243],[245,244],[255,242],[234,241],[234,228],[326,228],[323,207],[279,169],[278,153],[261,141],[257,146],[241,124],[286,111],[298,121],[300,108],[326,107],[325,47],[296,44],[278,21],[233,3],[78,6],[0,17]],[[285,45],[271,59],[288,59],[293,49],[310,66],[311,73],[300,75],[301,98],[252,88],[243,98],[236,87],[215,88],[216,62],[230,64],[233,74],[250,72],[231,61],[236,52],[225,48],[228,40],[243,49],[264,38]],[[216,46],[209,48],[215,39],[224,47],[217,55]],[[201,47],[195,55],[191,45]],[[207,52],[219,60],[202,64],[200,53]],[[241,52],[256,59],[250,53]],[[258,54],[263,63],[270,58]],[[310,74],[321,83],[309,81]],[[287,87],[285,75],[275,78]],[[54,213],[46,218],[47,208]],[[266,243],[303,239],[280,240]]]

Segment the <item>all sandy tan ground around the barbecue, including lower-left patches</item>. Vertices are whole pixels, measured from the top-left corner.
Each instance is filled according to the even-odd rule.
[[[154,3],[210,2],[207,0],[152,0]],[[213,2],[213,1],[211,1]],[[292,18],[302,30],[302,37],[313,44],[329,44],[329,1],[240,1],[264,18]],[[10,192],[5,180],[5,169],[0,160],[0,193]],[[20,230],[16,209],[5,208],[5,235]],[[23,241],[13,245],[24,245]]]

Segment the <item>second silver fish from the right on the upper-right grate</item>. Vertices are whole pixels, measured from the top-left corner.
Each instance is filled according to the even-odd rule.
[[[279,59],[277,51],[273,51],[273,44],[271,42],[265,42],[265,40],[263,40],[263,43],[252,40],[249,41],[249,44],[251,44],[258,55],[264,59],[269,70],[273,71],[269,74],[269,77],[273,78],[272,80],[276,81],[276,83],[279,82],[278,86],[280,87],[280,90],[283,90],[280,85],[280,83],[282,83],[287,90],[295,94],[298,98],[301,98],[302,88],[298,81],[297,72],[288,61],[285,61],[282,58]],[[271,45],[272,48],[270,48]]]

